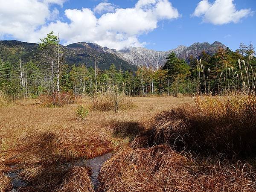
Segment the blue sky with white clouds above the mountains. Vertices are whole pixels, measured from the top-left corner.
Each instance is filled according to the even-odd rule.
[[[92,42],[111,49],[220,41],[256,45],[256,0],[0,0],[0,40]]]

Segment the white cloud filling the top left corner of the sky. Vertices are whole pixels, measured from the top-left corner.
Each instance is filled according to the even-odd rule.
[[[0,37],[26,40],[50,15],[47,4],[37,0],[0,0]]]

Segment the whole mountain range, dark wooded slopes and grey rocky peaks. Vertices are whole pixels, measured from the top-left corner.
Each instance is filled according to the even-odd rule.
[[[207,42],[195,43],[189,47],[180,45],[169,51],[155,51],[143,47],[130,47],[116,51],[108,47],[101,47],[93,43],[79,42],[62,46],[67,64],[86,64],[94,66],[94,60],[100,69],[108,69],[113,63],[118,69],[135,71],[137,67],[148,67],[157,70],[164,65],[166,57],[175,52],[178,58],[189,61],[190,56],[198,58],[202,51],[213,55],[219,47],[226,48],[224,44],[215,41],[213,44]],[[40,54],[38,44],[21,41],[0,41],[0,59],[3,61],[23,62],[38,61]]]

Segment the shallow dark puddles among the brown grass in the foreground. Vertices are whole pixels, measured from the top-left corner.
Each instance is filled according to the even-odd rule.
[[[94,189],[98,189],[98,186],[99,186],[98,175],[99,175],[101,166],[105,161],[109,160],[112,155],[113,154],[111,152],[111,153],[107,153],[102,156],[95,157],[95,158],[89,159],[89,160],[76,160],[72,163],[67,163],[66,169],[70,169],[73,166],[90,167],[92,170],[92,175],[90,176],[91,182],[94,186]],[[26,183],[23,180],[20,180],[20,178],[19,178],[19,174],[22,171],[23,170],[17,170],[15,172],[8,172],[6,174],[8,177],[10,177],[12,179],[12,186],[13,186],[12,192],[18,192],[18,189],[20,187],[26,186]]]

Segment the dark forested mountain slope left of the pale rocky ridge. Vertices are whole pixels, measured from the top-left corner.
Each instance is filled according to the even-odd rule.
[[[97,44],[81,42],[61,47],[64,49],[65,62],[70,65],[86,64],[87,67],[94,67],[94,59],[96,59],[97,67],[102,70],[108,69],[112,63],[118,69],[137,70],[137,66],[122,60],[122,58],[106,51]],[[17,62],[19,57],[23,62],[38,61],[40,59],[38,44],[21,41],[0,41],[0,59]]]

